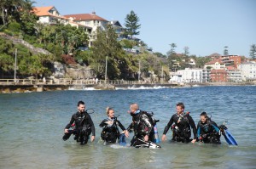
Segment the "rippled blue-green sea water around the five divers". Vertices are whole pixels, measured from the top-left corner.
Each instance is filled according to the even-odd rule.
[[[73,136],[63,141],[63,129],[84,100],[93,108],[96,141],[84,146]],[[183,102],[199,121],[202,111],[226,126],[238,143],[171,143],[171,130],[161,149],[104,145],[100,122],[106,107],[113,107],[125,127],[131,123],[129,105],[154,112],[159,136],[176,104]],[[0,94],[0,168],[256,168],[256,86],[131,88],[115,91],[69,90],[43,93]],[[126,142],[130,143],[133,133]]]

